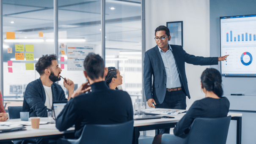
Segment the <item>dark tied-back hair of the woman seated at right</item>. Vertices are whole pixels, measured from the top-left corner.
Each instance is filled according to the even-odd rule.
[[[219,98],[223,95],[220,72],[215,68],[206,68],[201,75],[201,83],[204,88],[215,93]]]

